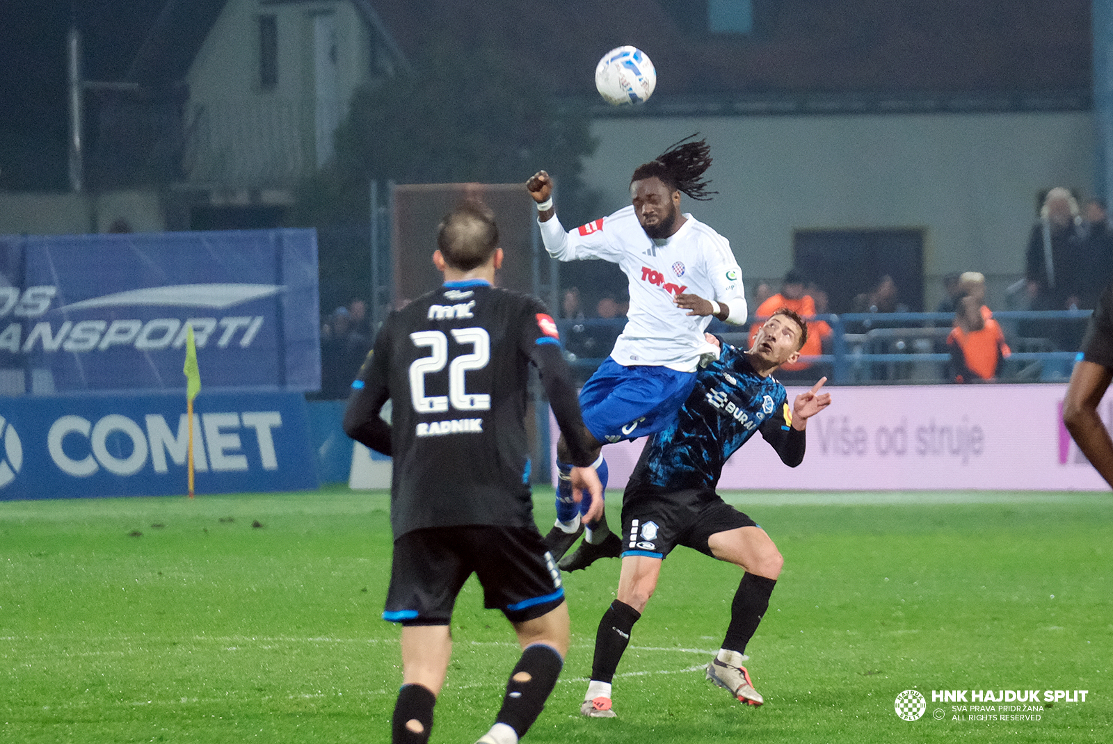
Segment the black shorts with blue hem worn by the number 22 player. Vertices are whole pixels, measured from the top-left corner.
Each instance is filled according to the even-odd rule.
[[[511,623],[541,617],[564,602],[560,569],[536,527],[431,527],[394,540],[383,619],[447,625],[473,573],[483,586],[483,605],[501,609]]]

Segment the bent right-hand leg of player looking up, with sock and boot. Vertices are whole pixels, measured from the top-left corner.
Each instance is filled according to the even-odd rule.
[[[708,538],[711,553],[746,569],[730,605],[730,624],[722,646],[707,665],[707,678],[729,690],[740,702],[761,705],[765,698],[754,690],[746,661],[746,644],[769,608],[777,577],[785,565],[777,546],[760,527],[739,527]]]

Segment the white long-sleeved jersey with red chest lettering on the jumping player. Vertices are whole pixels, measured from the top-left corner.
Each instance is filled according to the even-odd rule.
[[[564,231],[553,216],[541,225],[545,250],[562,261],[601,258],[618,264],[629,280],[630,311],[611,358],[623,366],[662,366],[693,371],[702,354],[715,347],[703,338],[711,316],[689,316],[673,302],[680,292],[705,299],[732,300],[742,313],[730,323],[746,323],[742,270],[730,242],[691,215],[672,236],[646,235],[633,206]],[[738,317],[741,315],[741,317]]]

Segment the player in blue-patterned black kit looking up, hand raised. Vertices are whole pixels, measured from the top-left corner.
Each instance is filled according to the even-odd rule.
[[[765,702],[742,661],[784,559],[769,535],[715,489],[723,464],[757,431],[786,465],[796,467],[804,460],[807,419],[830,405],[830,396],[819,393],[826,378],[796,396],[790,407],[785,386],[771,375],[799,357],[805,340],[807,325],[782,308],[761,326],[748,351],[723,345],[719,360],[697,375],[676,423],[646,444],[623,495],[618,599],[599,622],[591,682],[580,708],[583,715],[614,716],[614,671],[633,624],[657,588],[661,562],[677,545],[746,569],[707,677],[743,703]]]

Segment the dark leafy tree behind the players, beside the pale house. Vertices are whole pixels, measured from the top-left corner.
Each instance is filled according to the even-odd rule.
[[[297,190],[294,224],[323,232],[331,225],[365,226],[372,179],[524,183],[539,168],[559,175],[569,224],[588,212],[592,196],[580,175],[597,142],[585,107],[559,100],[539,82],[536,66],[515,59],[499,38],[476,43],[470,34],[466,51],[461,38],[434,32],[413,57],[411,75],[356,92],[336,130],[333,160]],[[323,237],[319,251],[324,307],[366,294],[367,261],[352,260],[351,240]]]

